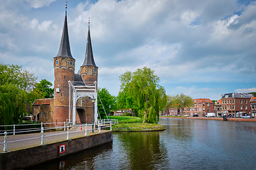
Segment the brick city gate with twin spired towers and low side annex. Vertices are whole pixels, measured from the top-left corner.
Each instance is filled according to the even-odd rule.
[[[36,100],[33,103],[33,118],[43,123],[56,123],[55,125],[58,126],[57,123],[68,122],[70,117],[73,117],[73,115],[70,115],[69,103],[70,98],[73,98],[73,93],[70,93],[68,81],[72,81],[73,85],[77,86],[93,85],[97,89],[98,67],[95,64],[92,53],[90,21],[88,23],[85,60],[78,73],[75,74],[75,58],[71,55],[67,11],[65,11],[63,34],[58,54],[53,57],[53,67],[54,98]],[[97,98],[97,96],[95,97]],[[89,96],[79,98],[75,106],[75,123],[92,123],[91,98]]]

